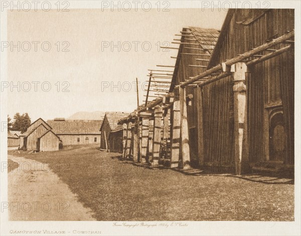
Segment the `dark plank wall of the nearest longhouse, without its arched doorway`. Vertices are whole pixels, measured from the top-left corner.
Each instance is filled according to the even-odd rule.
[[[233,11],[232,18],[228,19],[226,34],[221,36],[223,40],[217,45],[217,57],[212,58],[212,63],[210,63],[212,66],[294,29],[294,10],[292,9],[271,9],[249,24],[238,24],[246,17],[256,14],[256,11],[258,10]],[[280,47],[281,45],[278,45],[273,49]],[[263,54],[269,52],[265,51]],[[293,164],[293,52],[257,64],[251,68],[250,72],[246,81],[249,160],[251,162],[265,160],[266,150],[268,150],[265,147],[265,134],[268,132],[268,126],[265,126],[265,123],[268,120],[264,118],[266,110],[264,106],[282,101],[287,137],[284,163]],[[205,125],[208,123],[205,129],[205,158],[208,161],[231,160],[233,157],[234,127],[231,86],[229,77],[204,87],[205,96],[210,98],[203,100]],[[216,119],[218,120],[216,124],[212,124]],[[229,134],[226,134],[227,132]]]

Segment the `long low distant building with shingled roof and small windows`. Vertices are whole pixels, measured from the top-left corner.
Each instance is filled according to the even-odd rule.
[[[63,145],[100,144],[99,127],[101,120],[65,120],[55,118],[48,120],[52,131],[60,137]]]

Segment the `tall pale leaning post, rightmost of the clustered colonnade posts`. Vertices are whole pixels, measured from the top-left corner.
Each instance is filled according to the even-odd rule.
[[[184,170],[190,169],[189,133],[187,122],[186,92],[185,88],[179,88],[180,112],[181,112],[181,148],[182,167]]]

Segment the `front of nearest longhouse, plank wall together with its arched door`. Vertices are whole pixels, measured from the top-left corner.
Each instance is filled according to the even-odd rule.
[[[293,9],[230,10],[209,68],[276,39],[294,29]],[[247,66],[244,155],[250,163],[294,163],[294,50],[285,41],[242,61],[260,59],[283,47],[279,56]],[[231,162],[235,129],[231,76],[202,87],[204,161]],[[215,118],[214,118],[215,117]],[[213,122],[214,121],[214,122]],[[208,125],[207,125],[208,124]],[[215,125],[217,124],[217,125]]]

